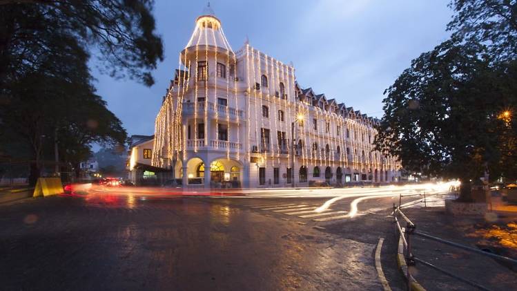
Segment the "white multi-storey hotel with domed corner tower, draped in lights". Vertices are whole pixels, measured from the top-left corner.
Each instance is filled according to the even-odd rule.
[[[247,41],[232,50],[208,7],[179,55],[150,165],[183,187],[396,182],[400,163],[373,151],[377,123],[302,88],[293,66]]]

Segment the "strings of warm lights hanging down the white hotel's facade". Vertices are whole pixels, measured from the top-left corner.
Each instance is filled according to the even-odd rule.
[[[209,23],[209,24],[208,24]],[[214,41],[215,45],[215,77],[214,77],[214,106],[210,105],[210,102],[208,102],[208,84],[209,84],[209,70],[211,66],[209,66],[208,62],[208,56],[209,56],[209,47],[208,47],[208,29],[212,32],[212,39]],[[162,107],[159,109],[157,118],[155,120],[155,143],[153,145],[153,155],[151,163],[152,165],[155,165],[157,167],[164,167],[164,166],[173,166],[176,165],[169,164],[165,158],[168,158],[169,161],[173,161],[174,158],[177,158],[179,160],[180,155],[182,154],[182,158],[185,161],[187,158],[187,146],[194,147],[194,151],[198,151],[199,142],[197,140],[198,133],[197,133],[197,122],[198,122],[198,94],[199,94],[199,46],[200,40],[202,37],[204,37],[204,55],[205,55],[205,71],[202,72],[204,74],[204,78],[202,78],[202,81],[204,82],[204,88],[205,88],[205,96],[204,96],[204,146],[208,146],[208,106],[211,106],[211,110],[215,109],[215,123],[218,128],[220,118],[219,118],[219,104],[217,101],[217,92],[218,89],[218,77],[217,77],[217,64],[218,64],[218,57],[222,55],[222,52],[218,51],[217,47],[217,37],[215,35],[215,30],[220,31],[220,35],[222,35],[222,46],[226,50],[226,68],[228,71],[225,71],[226,75],[226,98],[227,102],[230,101],[231,93],[233,93],[235,98],[235,112],[230,110],[230,106],[227,103],[226,105],[226,127],[228,130],[227,138],[228,140],[226,142],[220,142],[220,136],[219,131],[216,131],[216,140],[215,142],[212,142],[213,146],[215,146],[216,149],[222,147],[222,144],[226,144],[226,158],[230,159],[231,156],[231,150],[236,150],[236,156],[237,160],[240,160],[240,150],[242,149],[240,145],[240,111],[239,111],[239,100],[237,97],[237,55],[233,53],[233,50],[231,49],[230,44],[228,43],[228,40],[226,39],[226,36],[224,35],[224,31],[220,27],[220,22],[215,19],[214,17],[210,16],[204,16],[200,17],[197,20],[197,25],[195,27],[195,30],[193,32],[193,35],[191,36],[191,39],[189,39],[187,46],[185,47],[182,54],[179,55],[178,59],[178,67],[179,70],[176,73],[177,82],[173,82],[166,93],[166,96],[164,97],[164,101],[162,102]],[[187,140],[186,134],[187,134],[187,124],[183,124],[182,122],[182,107],[184,104],[184,98],[186,94],[188,94],[189,86],[191,86],[191,75],[193,75],[191,72],[191,58],[188,57],[188,48],[191,48],[193,46],[193,41],[197,38],[197,42],[195,43],[195,79],[194,83],[192,84],[194,86],[194,142],[191,143],[190,140]],[[248,92],[248,110],[247,114],[251,113],[252,105],[252,96],[251,96],[251,90],[254,88],[252,86],[251,82],[253,81],[253,85],[257,83],[257,79],[259,79],[260,84],[262,84],[262,61],[264,61],[264,72],[265,75],[269,78],[269,86],[264,86],[262,90],[260,90],[257,93],[257,90],[253,90],[253,100],[255,103],[255,120],[251,118],[251,116],[248,116],[248,122],[246,122],[248,126],[248,133],[247,133],[247,141],[250,142],[251,140],[251,127],[253,122],[255,122],[255,141],[258,144],[259,141],[259,120],[257,112],[262,112],[262,106],[264,105],[264,102],[267,102],[269,106],[269,144],[267,146],[269,147],[269,151],[266,151],[263,156],[263,162],[265,167],[267,167],[268,162],[267,158],[271,157],[271,165],[275,167],[275,161],[278,165],[281,165],[281,160],[283,157],[282,154],[282,144],[284,143],[284,140],[282,140],[283,135],[278,135],[277,133],[286,133],[286,131],[289,129],[289,126],[293,123],[294,115],[301,114],[304,115],[305,120],[304,122],[309,122],[311,118],[315,118],[317,122],[324,122],[325,131],[323,130],[323,124],[321,124],[320,128],[318,128],[317,131],[313,131],[312,127],[309,126],[306,128],[306,124],[304,126],[300,126],[300,124],[295,124],[295,131],[297,138],[294,138],[291,142],[286,143],[287,148],[287,162],[288,167],[291,167],[291,151],[294,151],[294,148],[291,148],[291,144],[298,143],[298,140],[300,140],[302,147],[300,147],[300,151],[298,151],[298,160],[302,164],[302,166],[307,167],[309,166],[309,162],[313,165],[319,165],[322,167],[324,164],[325,166],[331,166],[336,167],[338,165],[339,167],[353,167],[355,171],[360,171],[361,173],[371,173],[371,171],[375,171],[375,180],[378,181],[378,169],[380,169],[380,175],[382,177],[382,174],[385,175],[388,174],[388,171],[390,171],[391,175],[391,169],[396,169],[398,167],[398,160],[392,156],[386,156],[386,162],[384,161],[384,158],[382,157],[382,154],[379,151],[374,151],[374,147],[372,144],[371,138],[375,139],[375,136],[378,134],[375,128],[373,128],[373,123],[375,120],[369,120],[367,117],[360,115],[358,112],[357,115],[352,113],[351,115],[347,116],[347,118],[344,118],[342,116],[341,111],[337,113],[335,111],[336,106],[334,102],[327,103],[329,105],[329,109],[321,109],[320,106],[313,106],[312,104],[307,104],[307,102],[297,102],[297,90],[296,90],[296,83],[295,83],[295,71],[292,66],[286,66],[285,64],[282,64],[282,62],[277,61],[276,59],[273,59],[273,57],[269,57],[265,55],[264,53],[260,53],[260,51],[255,50],[254,48],[251,48],[249,44],[246,44],[246,71],[247,71],[247,92]],[[257,53],[257,67],[255,68],[255,51]],[[242,55],[242,50],[240,50],[240,55]],[[251,56],[250,56],[251,53]],[[184,59],[182,60],[182,57]],[[224,57],[224,56],[223,56]],[[233,72],[234,72],[234,79],[230,80],[230,74],[229,71],[231,68],[231,62],[233,60]],[[222,61],[224,62],[224,61]],[[250,65],[251,63],[251,65]],[[258,75],[257,75],[258,74]],[[233,82],[233,88],[230,88],[231,84],[230,82]],[[276,89],[277,86],[280,86],[280,82],[283,84],[286,84],[284,86],[284,90],[280,91],[282,93],[281,97],[284,99],[277,100],[276,97]],[[270,87],[271,86],[271,87]],[[286,90],[287,89],[287,90]],[[175,92],[177,90],[177,92]],[[222,89],[224,90],[224,89]],[[287,96],[284,97],[284,93],[288,92]],[[273,94],[272,94],[273,92]],[[265,97],[264,97],[264,94]],[[274,97],[273,97],[274,95]],[[273,99],[273,100],[272,100]],[[288,100],[289,99],[289,100]],[[260,102],[260,105],[259,105]],[[260,108],[257,108],[260,106]],[[313,106],[313,107],[312,107]],[[293,113],[291,113],[291,108],[293,109]],[[284,122],[287,121],[287,123],[280,122],[278,124],[277,120],[277,114],[279,111],[282,111],[284,113]],[[338,110],[340,110],[340,106],[338,106]],[[347,110],[346,107],[344,110]],[[287,113],[287,114],[285,114]],[[237,138],[237,144],[233,144],[231,140],[234,139],[234,135],[231,131],[231,120],[230,115],[235,115],[237,126],[235,128],[236,138]],[[312,114],[312,115],[311,115]],[[271,118],[275,118],[274,121],[271,120]],[[222,121],[222,120],[221,120]],[[273,126],[274,122],[274,126]],[[289,124],[289,126],[287,125]],[[329,124],[329,131],[326,131],[326,126]],[[235,124],[234,124],[235,125]],[[319,124],[318,124],[319,125]],[[333,128],[332,128],[333,127]],[[351,138],[347,138],[344,131],[345,130],[351,130],[352,136]],[[245,130],[245,129],[244,129]],[[262,116],[260,117],[260,142],[263,147],[266,146],[265,142],[265,132],[264,132],[264,118]],[[277,152],[275,153],[275,145],[271,145],[271,142],[274,140],[273,135],[271,135],[273,131],[273,135],[277,134]],[[245,131],[244,131],[244,134]],[[368,135],[368,140],[366,138],[366,135]],[[264,140],[262,140],[262,137],[264,137]],[[319,142],[319,153],[315,153],[312,151],[312,144],[314,142]],[[329,151],[326,151],[326,145],[329,144]],[[310,145],[310,147],[308,146]],[[305,149],[303,148],[305,147]],[[339,153],[337,153],[338,147],[340,148]],[[349,154],[347,154],[347,149],[351,149],[350,158]],[[358,152],[359,151],[359,152]],[[251,157],[251,148],[246,147],[245,153],[246,156]],[[367,156],[364,156],[364,154]],[[318,155],[318,156],[317,156]],[[262,154],[261,154],[262,156]],[[295,162],[294,160],[293,162]],[[360,167],[358,170],[357,168]],[[292,173],[294,173],[295,169],[291,169]],[[351,169],[348,170],[349,173],[351,173]],[[347,173],[344,169],[342,169],[342,173]],[[381,178],[382,179],[382,178]],[[387,181],[387,179],[385,179]]]

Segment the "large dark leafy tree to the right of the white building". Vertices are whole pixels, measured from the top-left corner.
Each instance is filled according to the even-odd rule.
[[[517,10],[505,10],[513,20],[497,14],[507,2],[451,2],[451,39],[414,59],[384,92],[377,149],[410,171],[460,178],[461,200],[485,171],[517,179],[517,59],[509,43]]]

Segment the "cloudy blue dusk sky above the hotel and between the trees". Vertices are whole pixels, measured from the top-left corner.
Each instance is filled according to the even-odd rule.
[[[293,62],[303,88],[382,117],[384,89],[414,59],[449,34],[449,0],[215,0],[228,41],[250,44],[284,63]],[[164,62],[155,85],[99,74],[95,86],[129,135],[154,132],[155,116],[177,68],[179,51],[206,1],[156,0],[157,32]]]

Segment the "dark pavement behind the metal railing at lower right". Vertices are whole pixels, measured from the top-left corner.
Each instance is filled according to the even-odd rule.
[[[438,236],[448,241],[469,245],[480,250],[517,258],[517,244],[510,244],[513,229],[517,239],[516,217],[500,218],[489,212],[485,217],[451,216],[442,207],[402,209],[419,232]],[[511,226],[515,226],[512,228]],[[510,232],[509,232],[510,231]],[[503,235],[505,234],[505,235]],[[517,273],[494,259],[449,247],[441,243],[411,236],[413,255],[457,276],[484,285],[491,290],[514,290]],[[514,241],[515,243],[515,241]],[[472,290],[456,279],[418,264],[411,268],[413,276],[427,290]]]

